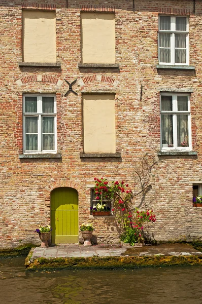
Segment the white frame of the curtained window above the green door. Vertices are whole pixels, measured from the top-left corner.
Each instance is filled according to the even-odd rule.
[[[37,112],[36,113],[26,113],[25,112],[25,97],[37,97]],[[43,113],[42,112],[42,97],[54,97],[54,113]],[[24,154],[47,154],[56,153],[57,151],[57,109],[56,109],[56,96],[54,94],[26,94],[23,95],[23,153]],[[26,150],[26,132],[25,132],[25,117],[38,117],[38,149],[37,150]],[[43,150],[42,140],[42,118],[43,117],[54,117],[54,150]]]

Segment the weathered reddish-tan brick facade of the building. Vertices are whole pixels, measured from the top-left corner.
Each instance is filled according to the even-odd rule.
[[[134,167],[145,153],[161,161],[155,169],[146,207],[157,221],[157,241],[202,239],[202,208],[192,207],[192,184],[202,182],[202,1],[196,0],[0,0],[1,13],[1,247],[38,243],[38,223],[50,222],[50,193],[73,187],[79,194],[79,224],[92,222],[97,241],[118,241],[114,217],[90,216],[94,177],[125,180],[134,187]],[[22,62],[22,9],[56,10],[60,67],[19,66]],[[81,62],[80,12],[115,12],[116,63],[78,67]],[[189,65],[195,70],[157,69],[159,14],[189,16]],[[68,84],[77,79],[65,95]],[[160,92],[190,93],[192,150],[197,155],[157,156],[160,150]],[[116,151],[121,158],[80,158],[83,153],[82,94],[114,93]],[[57,153],[61,158],[26,158],[22,142],[22,96],[56,94]],[[105,144],[105,143],[104,143]],[[135,206],[142,206],[140,198]]]

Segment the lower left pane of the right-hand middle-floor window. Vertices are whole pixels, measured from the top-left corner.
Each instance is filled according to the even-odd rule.
[[[161,115],[162,147],[173,147],[173,115]]]

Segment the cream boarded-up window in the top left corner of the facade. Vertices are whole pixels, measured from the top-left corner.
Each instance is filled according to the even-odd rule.
[[[56,62],[55,12],[22,11],[24,62]]]

